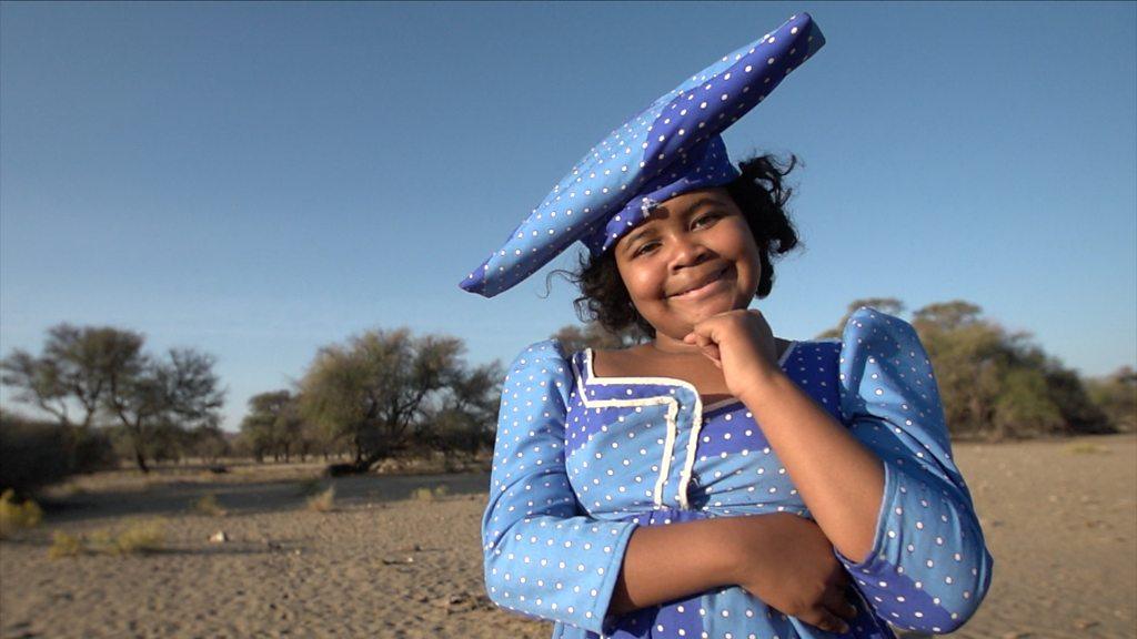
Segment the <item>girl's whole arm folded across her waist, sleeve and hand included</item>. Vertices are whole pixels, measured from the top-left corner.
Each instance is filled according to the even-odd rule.
[[[611,614],[717,586],[741,584],[787,614],[800,612],[795,616],[808,623],[815,623],[810,611],[819,600],[841,611],[832,596],[840,589],[824,579],[831,546],[820,530],[814,545],[804,546],[805,526],[816,526],[796,515],[642,528],[583,515],[564,465],[570,364],[547,341],[522,352],[509,371],[482,518],[485,586],[493,603],[596,633]],[[798,571],[803,565],[815,567]],[[779,595],[794,600],[782,603]],[[827,622],[821,613],[815,619]]]

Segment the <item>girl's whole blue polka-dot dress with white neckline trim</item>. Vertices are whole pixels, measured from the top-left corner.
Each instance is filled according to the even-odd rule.
[[[915,331],[862,308],[841,341],[794,342],[780,366],[885,467],[869,558],[835,550],[858,592],[844,637],[958,628],[993,561]],[[554,639],[833,637],[739,587],[607,614],[637,526],[780,512],[811,516],[741,403],[704,406],[671,377],[597,377],[590,350],[566,357],[555,341],[514,360],[482,520],[485,584],[497,605],[555,622]]]

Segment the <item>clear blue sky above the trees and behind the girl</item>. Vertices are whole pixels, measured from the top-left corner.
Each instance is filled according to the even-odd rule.
[[[1131,2],[5,2],[0,351],[60,322],[199,348],[230,429],[370,327],[508,362],[575,322],[571,285],[458,281],[608,131],[802,10],[828,44],[724,135],[805,161],[775,333],[965,299],[1084,374],[1137,363]]]

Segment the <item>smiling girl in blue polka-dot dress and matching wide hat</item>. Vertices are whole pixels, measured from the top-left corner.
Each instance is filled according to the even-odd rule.
[[[951,632],[991,558],[903,321],[774,338],[748,309],[796,234],[772,158],[719,133],[823,39],[810,16],[615,130],[463,282],[493,296],[581,240],[578,300],[650,340],[538,342],[503,387],[482,526],[490,597],[554,637]],[[888,622],[888,623],[886,623]]]

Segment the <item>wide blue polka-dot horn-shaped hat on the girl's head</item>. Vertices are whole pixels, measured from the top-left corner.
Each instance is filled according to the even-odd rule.
[[[600,255],[659,202],[738,177],[720,133],[824,42],[798,14],[664,94],[592,147],[462,288],[493,297],[578,240]]]

